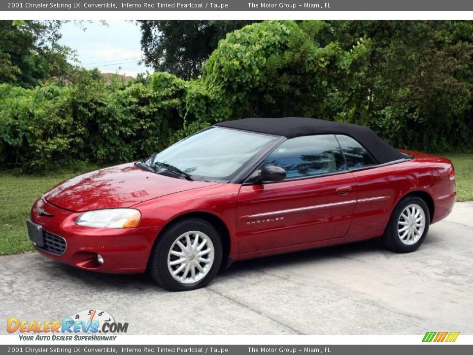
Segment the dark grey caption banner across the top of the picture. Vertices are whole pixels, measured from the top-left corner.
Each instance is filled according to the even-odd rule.
[[[0,11],[471,11],[465,0],[29,0],[0,3]]]

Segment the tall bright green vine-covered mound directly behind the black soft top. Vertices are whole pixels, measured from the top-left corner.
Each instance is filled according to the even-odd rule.
[[[316,30],[314,29],[315,33]],[[366,45],[319,46],[294,21],[246,26],[220,41],[186,98],[189,116],[215,122],[248,116],[346,120],[358,103]]]

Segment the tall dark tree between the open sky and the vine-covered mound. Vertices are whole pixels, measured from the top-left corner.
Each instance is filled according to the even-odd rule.
[[[137,21],[144,63],[184,79],[197,78],[203,62],[227,33],[255,21]]]

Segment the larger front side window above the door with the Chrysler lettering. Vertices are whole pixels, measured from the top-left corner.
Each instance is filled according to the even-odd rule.
[[[287,178],[346,170],[335,135],[304,136],[282,142],[265,160],[265,167],[278,166]]]

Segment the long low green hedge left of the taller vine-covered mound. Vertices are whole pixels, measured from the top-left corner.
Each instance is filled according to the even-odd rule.
[[[165,148],[183,127],[187,83],[173,75],[108,86],[98,71],[80,71],[73,80],[33,90],[0,85],[2,166],[130,161]]]

